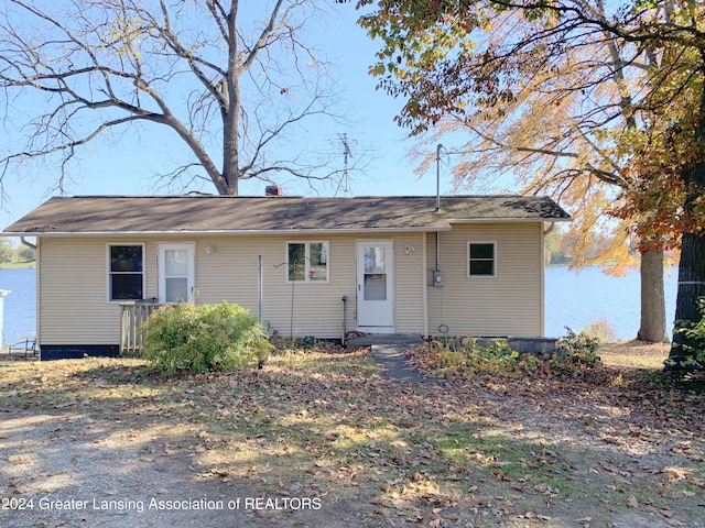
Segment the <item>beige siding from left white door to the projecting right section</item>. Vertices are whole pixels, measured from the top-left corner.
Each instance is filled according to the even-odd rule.
[[[389,237],[394,241],[394,330],[423,331],[423,239],[421,233]],[[356,328],[357,278],[355,235],[210,237],[196,250],[197,302],[228,300],[258,311],[258,255],[262,255],[262,319],[282,336],[338,339],[343,332],[343,297],[347,328]],[[286,243],[328,242],[328,282],[288,283]],[[205,248],[216,251],[206,255]],[[413,248],[409,254],[406,246]],[[293,289],[293,319],[292,319]]]

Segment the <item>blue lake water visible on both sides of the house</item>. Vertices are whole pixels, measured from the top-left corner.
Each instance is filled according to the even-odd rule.
[[[4,343],[14,343],[35,331],[35,270],[0,270],[0,289],[12,293],[4,298]],[[623,277],[587,267],[570,272],[547,267],[545,334],[565,336],[565,327],[582,330],[592,322],[608,321],[618,339],[633,339],[639,330],[639,272]],[[665,276],[668,326],[673,326],[677,268]]]

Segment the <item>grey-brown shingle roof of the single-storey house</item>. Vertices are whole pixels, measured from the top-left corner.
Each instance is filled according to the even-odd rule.
[[[523,196],[52,198],[4,234],[444,230],[453,222],[555,221],[553,200]]]

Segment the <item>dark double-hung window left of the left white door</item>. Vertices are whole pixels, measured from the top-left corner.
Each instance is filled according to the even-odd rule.
[[[108,300],[144,298],[144,245],[108,245]]]

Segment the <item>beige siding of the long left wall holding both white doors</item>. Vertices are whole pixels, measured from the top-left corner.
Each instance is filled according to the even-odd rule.
[[[380,235],[369,237],[380,239]],[[394,243],[394,330],[424,328],[424,235],[383,237]],[[357,242],[360,235],[43,237],[40,240],[39,334],[46,345],[117,345],[120,308],[108,301],[107,245],[143,243],[145,297],[159,296],[158,243],[195,243],[196,302],[238,302],[258,311],[262,255],[262,318],[282,336],[340,338],[343,297],[347,330],[356,328]],[[328,282],[286,282],[286,242],[327,241]],[[206,248],[215,251],[207,254]],[[409,251],[406,251],[409,248]],[[434,251],[431,248],[430,250]],[[434,262],[430,260],[430,262]],[[293,288],[293,320],[292,320]],[[437,323],[436,323],[437,326]]]

